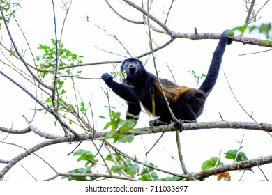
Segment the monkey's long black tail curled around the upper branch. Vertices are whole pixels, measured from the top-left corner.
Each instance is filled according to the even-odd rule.
[[[213,89],[213,86],[215,86],[216,84],[216,79],[218,78],[218,73],[222,62],[222,56],[225,52],[226,45],[232,43],[232,39],[228,38],[229,33],[229,30],[225,30],[222,33],[216,50],[213,52],[213,58],[211,60],[208,74],[206,75],[206,79],[203,81],[202,85],[199,88],[201,91],[204,91],[206,97],[208,97],[209,93]]]

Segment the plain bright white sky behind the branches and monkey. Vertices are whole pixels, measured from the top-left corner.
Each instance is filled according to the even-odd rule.
[[[257,1],[257,8],[262,6],[264,2]],[[20,21],[20,26],[29,40],[35,53],[34,55],[38,55],[40,51],[36,47],[40,43],[49,45],[50,39],[54,38],[52,2],[28,0],[20,1],[20,3],[22,9],[18,11],[17,19]],[[126,17],[130,17],[133,20],[141,20],[141,15],[123,3],[119,1],[112,1],[112,3]],[[169,3],[170,1],[153,3],[151,14],[163,20],[165,18],[162,11],[163,6],[168,7]],[[55,6],[59,35],[64,11],[61,9],[61,1],[55,2]],[[172,13],[169,17],[169,27],[174,31],[186,33],[192,33],[194,27],[198,28],[199,33],[222,33],[225,29],[232,29],[235,26],[243,25],[246,14],[243,0],[174,1]],[[89,16],[90,22],[86,22],[86,16]],[[260,16],[262,18],[257,24],[271,22],[271,3],[259,13]],[[116,40],[113,40],[107,33],[97,29],[93,24],[98,24],[102,29],[116,35],[126,45],[130,53],[135,56],[149,49],[145,26],[136,26],[135,24],[124,22],[112,13],[105,1],[73,1],[63,33],[63,42],[67,49],[70,49],[75,54],[84,56],[84,63],[123,59],[121,56],[105,53],[96,49],[96,47],[126,56],[125,51]],[[10,28],[17,46],[20,49],[26,48],[25,42],[22,36],[20,36],[20,31],[16,28],[15,24],[10,24]],[[3,35],[3,42],[8,43],[9,40],[4,29],[0,32]],[[156,33],[152,34],[154,40],[159,45],[169,40],[167,36],[156,35]],[[257,34],[252,36],[259,38]],[[195,80],[188,71],[195,70],[198,74],[202,72],[206,73],[211,61],[211,54],[217,43],[218,40],[176,40],[172,45],[169,45],[160,52],[156,52],[156,63],[160,70],[160,77],[172,79],[166,67],[167,63],[172,72],[174,72],[177,84],[197,87]],[[253,116],[258,122],[271,123],[270,111],[272,103],[270,100],[272,94],[267,89],[271,86],[271,52],[238,56],[239,54],[259,52],[265,49],[267,48],[250,45],[243,46],[241,43],[234,42],[232,45],[227,46],[222,67],[225,70],[236,98],[238,98],[245,110],[249,113],[253,111]],[[29,55],[26,56],[26,59],[31,63]],[[22,63],[18,63],[19,66],[23,68]],[[0,65],[0,69],[4,72],[9,71],[4,65]],[[149,61],[146,69],[154,72],[151,61]],[[84,71],[83,77],[97,78],[103,72],[112,72],[112,65],[97,65],[88,68],[78,68],[78,70]],[[13,75],[13,78],[20,81],[20,77],[16,75]],[[91,80],[78,80],[77,82],[77,88],[81,92],[84,101],[91,102],[92,104],[94,116],[98,123],[98,131],[103,130],[105,120],[100,120],[97,116],[107,116],[107,110],[104,108],[107,104],[107,99],[100,88],[101,86],[105,88],[105,84],[103,84],[103,81]],[[2,94],[0,102],[0,126],[11,127],[13,123],[13,128],[15,129],[27,127],[22,114],[31,119],[34,107],[33,100],[7,81],[7,79],[0,77],[0,83]],[[29,90],[33,91],[33,87],[29,86]],[[114,94],[111,95],[111,98],[112,104],[114,104],[114,107],[118,111],[121,111],[124,118],[126,113],[124,102]],[[118,102],[115,100],[118,100]],[[252,122],[234,100],[227,81],[222,74],[222,70],[220,71],[215,88],[206,101],[204,114],[199,117],[199,121],[220,120],[219,112],[225,120]],[[146,127],[149,120],[149,116],[142,114],[137,127]],[[54,124],[51,123],[51,116],[44,116],[40,113],[37,114],[33,125],[36,125],[36,127],[45,132],[61,134],[62,130],[54,127]],[[243,134],[242,150],[249,159],[271,155],[272,138],[265,132],[254,130],[196,130],[183,132],[181,134],[181,143],[183,146],[183,157],[188,170],[192,172],[200,171],[202,162],[206,159],[218,156],[220,151],[222,158],[224,157],[223,153],[227,152],[227,150],[238,149],[239,143],[237,141],[241,141]],[[143,143],[149,149],[159,136],[160,134],[137,137],[133,143],[119,144],[119,148],[130,156],[134,156],[136,153],[138,159],[144,161],[146,157],[144,156]],[[0,134],[0,140],[4,137],[6,137],[6,134]],[[11,143],[22,144],[26,148],[30,148],[43,140],[33,134],[9,135],[8,139],[6,139],[6,141]],[[172,159],[172,156],[178,159],[174,140],[173,133],[165,134],[163,139],[160,140],[160,144],[149,153],[146,161],[153,162],[153,164],[156,164],[160,168],[169,171],[181,170],[175,160]],[[91,147],[89,143],[84,143],[80,146],[80,148],[85,150],[92,150],[93,148]],[[69,145],[68,143],[63,143],[40,150],[38,154],[44,157],[50,164],[53,164],[59,172],[66,173],[70,169],[84,165],[77,163],[75,157],[66,156],[73,148],[75,148],[75,144]],[[14,146],[6,146],[1,143],[0,151],[1,159],[11,159],[19,154],[19,152],[22,152],[22,150],[18,150]],[[93,153],[96,152],[93,150]],[[225,159],[223,161],[226,164],[230,162],[227,162]],[[44,180],[54,175],[43,162],[31,156],[22,160],[22,162],[7,173],[6,177],[8,177],[8,180],[33,180],[22,169],[20,164],[28,171],[31,171],[38,180]],[[3,166],[4,164],[0,164],[0,169]],[[271,180],[272,165],[262,166],[262,169]],[[250,171],[245,173],[245,180],[264,180],[264,176],[262,176],[259,169],[254,168],[253,170],[255,173],[251,173]],[[232,172],[231,174],[234,176],[232,180],[239,180],[241,176],[241,173]],[[215,179],[211,178],[211,180]]]

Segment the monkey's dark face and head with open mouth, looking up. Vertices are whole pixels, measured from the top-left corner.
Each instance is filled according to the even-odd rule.
[[[142,61],[135,58],[129,58],[123,61],[121,71],[125,70],[128,77],[133,77],[142,67]]]

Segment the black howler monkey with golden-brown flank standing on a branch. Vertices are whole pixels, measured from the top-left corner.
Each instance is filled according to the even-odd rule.
[[[199,89],[179,86],[167,79],[160,79],[174,116],[180,121],[194,121],[202,114],[205,100],[216,84],[225,47],[232,43],[232,38],[228,36],[232,36],[232,31],[226,30],[222,33],[213,53],[208,74]],[[151,120],[149,125],[171,123],[172,116],[165,104],[157,77],[147,72],[142,61],[135,58],[125,59],[121,64],[121,71],[123,70],[126,71],[127,77],[122,83],[113,81],[112,75],[108,73],[104,73],[101,77],[114,93],[128,102],[126,119],[137,120],[141,111],[140,103],[142,103],[147,111],[159,116],[158,119]]]

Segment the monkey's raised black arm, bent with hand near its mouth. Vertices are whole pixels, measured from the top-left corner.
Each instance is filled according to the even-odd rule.
[[[139,91],[139,89],[135,88],[135,86],[119,84],[114,81],[112,75],[109,75],[108,73],[104,73],[101,78],[105,81],[107,86],[112,88],[114,93],[128,102],[137,103],[143,97],[143,94]]]

